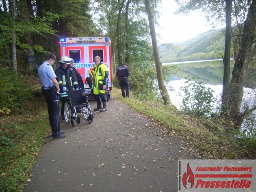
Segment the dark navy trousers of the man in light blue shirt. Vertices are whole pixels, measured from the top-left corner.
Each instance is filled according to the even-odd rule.
[[[52,127],[52,136],[57,137],[61,134],[60,123],[60,100],[59,95],[52,95],[51,90],[42,90],[43,95],[46,97],[48,115],[50,125]]]

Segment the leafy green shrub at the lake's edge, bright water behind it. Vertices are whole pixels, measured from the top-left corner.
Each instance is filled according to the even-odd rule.
[[[185,79],[187,79],[185,83],[188,85],[181,87],[181,90],[184,91],[181,110],[198,116],[210,114],[213,111],[214,103],[217,103],[217,99],[213,97],[214,91],[211,88],[206,88],[203,82],[197,82],[196,80],[200,79],[197,76],[193,77],[193,80],[189,76]],[[182,96],[180,93],[179,95]]]

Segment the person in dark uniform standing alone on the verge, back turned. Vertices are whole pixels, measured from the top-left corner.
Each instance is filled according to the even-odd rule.
[[[130,76],[130,71],[127,67],[127,63],[123,63],[121,67],[117,69],[117,72],[115,75],[118,77],[119,80],[119,86],[122,91],[122,96],[129,97],[129,81],[128,76]],[[126,92],[124,93],[124,88],[126,89]]]

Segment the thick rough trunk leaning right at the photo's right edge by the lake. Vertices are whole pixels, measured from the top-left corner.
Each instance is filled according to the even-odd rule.
[[[228,108],[229,117],[234,121],[236,128],[241,126],[243,122],[243,114],[240,113],[241,103],[243,99],[243,80],[245,75],[245,70],[248,67],[248,59],[250,54],[252,54],[252,45],[254,43],[255,37],[255,28],[256,28],[256,0],[252,0],[250,5],[249,12],[247,14],[243,32],[239,41],[239,50],[237,56],[235,55],[234,60],[234,69],[232,71],[232,80],[229,87],[229,100]],[[251,109],[247,109],[251,111]]]

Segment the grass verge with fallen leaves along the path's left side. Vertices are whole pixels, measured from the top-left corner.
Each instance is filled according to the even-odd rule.
[[[44,97],[0,120],[0,191],[20,192],[48,134]]]

